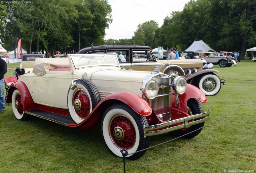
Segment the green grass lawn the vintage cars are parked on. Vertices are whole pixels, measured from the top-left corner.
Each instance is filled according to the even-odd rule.
[[[205,124],[235,109],[256,91],[256,81],[244,81],[256,80],[256,62],[214,69],[227,84],[217,95],[207,96],[203,107],[211,110],[211,119]],[[255,103],[256,94],[195,138],[176,139],[149,149],[136,161],[126,160],[126,172],[256,171]],[[168,134],[153,136],[150,147],[170,139]],[[0,172],[123,172],[123,159],[104,146],[100,125],[82,130],[37,117],[23,122],[14,117],[11,104],[0,115],[0,151]]]

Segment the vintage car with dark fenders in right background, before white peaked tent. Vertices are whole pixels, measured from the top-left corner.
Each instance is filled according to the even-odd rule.
[[[236,65],[236,61],[228,56],[216,56],[215,52],[198,52],[199,58],[204,58],[207,64],[219,64],[220,67]]]

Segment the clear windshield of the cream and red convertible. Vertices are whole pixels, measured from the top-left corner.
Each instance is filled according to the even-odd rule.
[[[76,69],[87,66],[120,66],[116,54],[75,54],[71,59]]]

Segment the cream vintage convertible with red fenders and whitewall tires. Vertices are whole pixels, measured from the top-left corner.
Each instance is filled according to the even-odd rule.
[[[109,151],[123,157],[125,149],[132,160],[146,152],[134,153],[148,147],[149,136],[169,132],[190,139],[210,118],[200,103],[206,96],[183,76],[125,70],[116,54],[37,58],[33,73],[11,84],[7,102],[23,121],[32,115],[82,129],[101,121]]]

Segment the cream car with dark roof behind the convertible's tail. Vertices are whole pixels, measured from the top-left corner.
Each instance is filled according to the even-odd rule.
[[[25,73],[32,72],[36,58],[44,58],[44,54],[25,54],[21,56],[21,63],[19,67],[16,67],[14,76],[18,77]]]

